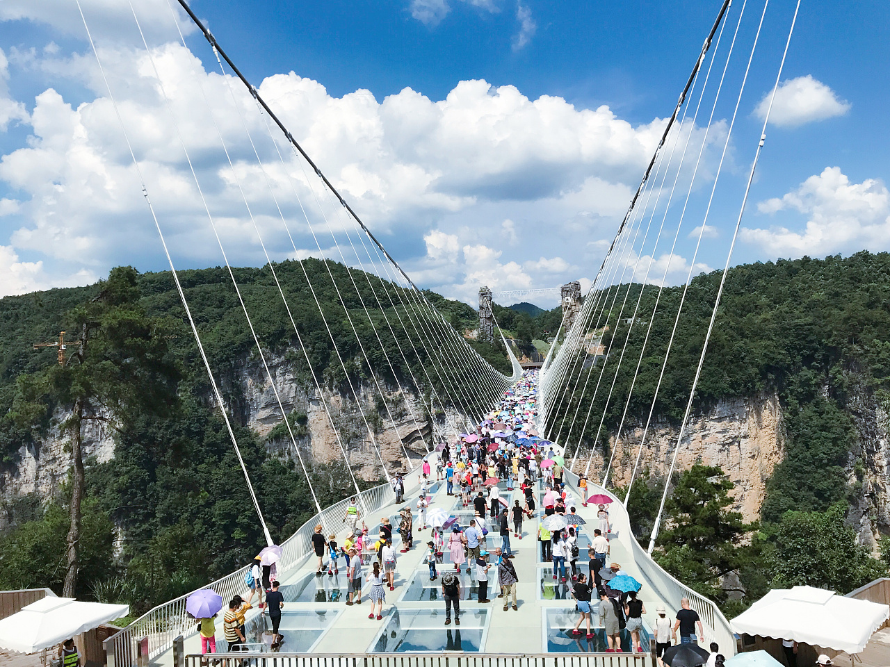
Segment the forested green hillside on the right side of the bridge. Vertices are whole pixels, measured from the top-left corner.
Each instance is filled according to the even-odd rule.
[[[655,406],[655,419],[662,423],[676,424],[683,417],[719,282],[719,272],[702,275],[692,280],[686,293]],[[627,288],[619,287],[619,304]],[[629,423],[646,420],[683,296],[682,287],[666,288],[652,318],[658,287],[629,289],[627,302],[632,304],[643,289],[629,339],[623,321],[629,313],[617,326],[617,309],[600,320],[610,326],[603,337],[608,351],[604,382],[611,382],[626,340],[625,361],[631,362],[619,368],[608,407],[607,392],[595,398],[592,413],[606,414],[599,441],[594,442],[598,419],[590,420],[584,434],[584,447],[595,446],[607,456],[649,332],[628,412]],[[576,376],[589,372],[582,369]],[[583,377],[581,382],[583,386]],[[694,405],[704,411],[724,399],[775,393],[784,423],[783,458],[767,483],[762,520],[751,526],[730,509],[726,494],[732,483],[721,478],[721,470],[678,474],[666,508],[673,526],[659,535],[662,565],[730,611],[738,611],[769,585],[810,583],[846,592],[886,575],[886,538],[881,541],[884,562],[870,559],[870,549],[857,542],[863,532],[870,544],[870,531],[890,531],[890,480],[880,435],[887,430],[888,391],[890,254],[863,252],[733,268]],[[590,382],[586,394],[576,396],[563,414],[570,419],[578,401],[587,410],[594,392],[595,382]],[[872,480],[869,494],[863,493],[866,478]],[[644,470],[642,483],[634,486],[629,510],[643,545],[664,482]],[[748,591],[742,602],[721,590],[724,575],[732,572],[741,576],[741,589]]]

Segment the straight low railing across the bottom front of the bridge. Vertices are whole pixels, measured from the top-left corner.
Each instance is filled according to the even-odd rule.
[[[218,667],[651,667],[648,653],[483,654],[389,653],[297,654],[223,653],[186,655],[185,667],[205,667],[207,659]]]

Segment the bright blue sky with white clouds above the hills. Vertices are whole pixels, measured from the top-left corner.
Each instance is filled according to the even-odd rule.
[[[229,88],[231,79],[212,74],[212,54],[193,30],[186,42],[199,60],[177,48],[166,0],[145,0],[137,13],[172,107],[153,84],[128,5],[82,4],[178,267],[215,265],[221,254],[172,117],[195,157],[231,261],[263,262],[238,185],[274,259],[340,259],[331,239],[345,245],[349,223],[335,219],[336,206],[306,177],[300,181],[302,167],[293,160],[271,178],[282,213],[293,219],[296,247],[276,227],[263,185],[269,174],[251,165],[244,129],[263,133],[262,121],[251,116],[243,91]],[[763,4],[745,4],[716,125],[706,131],[702,111],[692,130],[690,155],[706,132],[708,141],[675,256],[667,239],[678,210],[667,213],[659,245],[649,237],[647,246],[641,234],[639,245],[616,259],[625,277],[630,271],[661,279],[667,266],[668,283],[685,279],[695,252],[690,234],[703,220]],[[735,0],[727,16],[705,110],[741,5]],[[595,275],[719,4],[192,6],[412,277],[472,301],[481,283],[508,290]],[[693,272],[725,260],[762,123],[756,108],[776,76],[793,8],[772,0],[765,14]],[[803,4],[734,263],[890,248],[888,13],[877,1],[857,3],[854,11]],[[74,0],[4,0],[0,48],[0,293],[82,284],[123,263],[165,268]],[[239,113],[247,114],[247,125]],[[259,150],[271,170],[275,144],[266,139]],[[681,169],[683,192],[692,162]],[[316,208],[302,223],[301,204]],[[656,227],[660,217],[659,209]],[[318,234],[320,252],[310,221],[325,234],[320,225],[332,227],[333,237]]]

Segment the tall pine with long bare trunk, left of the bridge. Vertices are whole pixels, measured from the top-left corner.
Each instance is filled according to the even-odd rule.
[[[85,424],[98,422],[120,433],[142,412],[166,414],[176,401],[179,374],[163,327],[142,309],[137,276],[132,267],[112,269],[98,296],[70,313],[70,328],[79,333],[77,349],[65,366],[45,374],[49,395],[69,414],[61,424],[69,433],[72,462],[66,597],[77,591]]]

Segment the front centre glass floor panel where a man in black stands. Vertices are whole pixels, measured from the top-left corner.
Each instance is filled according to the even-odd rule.
[[[453,619],[453,616],[452,616]],[[398,609],[384,622],[384,629],[368,653],[478,653],[488,628],[489,610],[461,610],[460,626],[445,625],[445,609]]]

